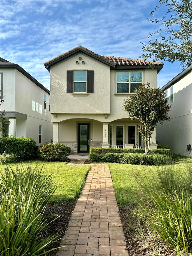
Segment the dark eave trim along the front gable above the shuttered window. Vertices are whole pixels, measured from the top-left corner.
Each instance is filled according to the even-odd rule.
[[[57,60],[54,60],[54,61],[52,61],[51,63],[45,64],[45,63],[46,63],[46,62],[45,62],[45,63],[44,63],[45,68],[50,72],[50,67],[51,67],[51,66],[53,66],[53,65],[55,65],[55,64],[57,64],[57,63],[59,63],[60,61],[65,60],[65,59],[67,59],[67,58],[69,58],[69,57],[71,57],[71,56],[73,56],[73,55],[75,55],[76,53],[79,53],[79,52],[84,53],[84,54],[88,55],[89,57],[92,57],[93,59],[96,59],[96,60],[102,62],[102,63],[105,64],[105,65],[108,65],[108,66],[110,66],[110,67],[112,67],[112,68],[115,68],[115,65],[113,65],[113,64],[111,64],[111,63],[109,63],[109,62],[107,62],[107,61],[105,61],[105,60],[102,60],[101,58],[98,58],[97,56],[94,56],[93,54],[88,53],[88,52],[86,52],[86,51],[84,51],[84,50],[82,50],[82,49],[77,49],[77,50],[75,50],[75,51],[73,51],[73,52],[70,52],[69,54],[64,55],[63,57],[61,57],[61,58],[59,58],[59,59],[57,59]]]

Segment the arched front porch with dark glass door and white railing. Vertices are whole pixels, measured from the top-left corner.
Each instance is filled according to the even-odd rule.
[[[130,119],[100,122],[93,119],[68,119],[53,123],[53,142],[71,147],[71,154],[88,155],[91,147],[145,148],[138,128],[141,124]],[[150,148],[157,148],[155,131]]]

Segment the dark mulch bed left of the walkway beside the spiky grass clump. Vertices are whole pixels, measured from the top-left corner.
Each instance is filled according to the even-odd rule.
[[[46,233],[46,236],[51,235],[53,232],[56,232],[59,236],[59,238],[63,238],[64,232],[67,230],[67,225],[70,220],[71,214],[73,209],[75,208],[76,201],[73,202],[63,202],[63,203],[57,203],[57,204],[49,204],[47,205],[44,215],[50,216],[50,215],[61,215],[61,217],[57,218],[53,222],[51,222],[48,226],[48,231]],[[51,221],[55,219],[54,218],[48,218],[48,221]],[[61,241],[61,240],[60,240]],[[47,250],[50,250],[52,248],[59,247],[60,241],[53,243],[52,245],[47,247]],[[47,253],[47,256],[56,256],[58,250],[51,251]]]

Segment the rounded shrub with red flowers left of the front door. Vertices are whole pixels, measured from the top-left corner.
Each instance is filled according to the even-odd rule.
[[[49,143],[40,149],[44,161],[66,161],[71,154],[71,148],[62,143]]]

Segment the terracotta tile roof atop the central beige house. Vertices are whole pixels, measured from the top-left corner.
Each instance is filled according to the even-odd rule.
[[[93,57],[96,57],[98,59],[100,59],[102,62],[105,62],[106,64],[110,64],[111,66],[115,67],[115,66],[129,66],[129,65],[149,65],[149,64],[154,64],[154,65],[164,65],[163,62],[152,62],[152,61],[148,61],[148,60],[137,60],[137,59],[129,59],[129,58],[122,58],[122,57],[114,57],[114,56],[103,56],[103,55],[99,55],[95,52],[92,52],[91,50],[79,45],[67,52],[64,52],[60,55],[58,55],[57,57],[47,61],[44,63],[45,66],[50,66],[49,64],[51,64],[52,62],[57,62],[57,60],[61,59],[65,59],[65,56],[67,58],[67,55],[69,55],[70,53],[73,53],[77,50],[81,50],[85,53],[88,53],[89,55],[92,55]],[[47,68],[47,67],[46,67]]]

